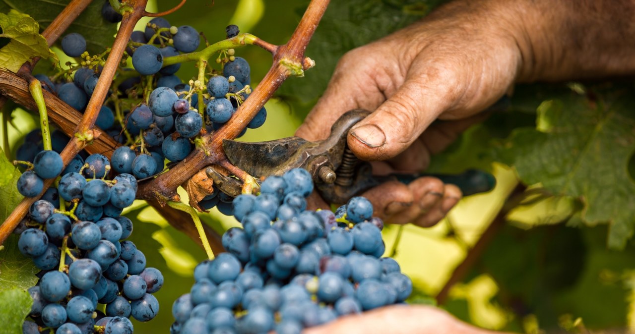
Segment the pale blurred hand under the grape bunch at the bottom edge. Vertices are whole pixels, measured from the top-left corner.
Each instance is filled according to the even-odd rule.
[[[305,334],[487,334],[488,330],[462,323],[448,312],[423,305],[393,305],[309,328]]]

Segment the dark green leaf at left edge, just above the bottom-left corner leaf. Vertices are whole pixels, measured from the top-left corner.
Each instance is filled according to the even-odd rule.
[[[18,236],[11,234],[0,250],[0,291],[13,288],[27,289],[37,282],[39,272],[33,261],[18,250]],[[2,307],[0,307],[2,309]]]

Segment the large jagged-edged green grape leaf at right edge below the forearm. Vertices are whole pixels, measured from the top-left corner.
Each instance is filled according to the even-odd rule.
[[[615,92],[615,90],[614,90]],[[631,94],[631,95],[629,95]],[[571,91],[538,107],[537,126],[512,132],[500,157],[526,184],[579,198],[589,226],[608,222],[608,246],[622,249],[635,229],[635,150],[632,91],[598,100]]]

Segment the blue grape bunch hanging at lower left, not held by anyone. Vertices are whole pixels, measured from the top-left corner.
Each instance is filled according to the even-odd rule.
[[[23,175],[40,177],[37,157],[50,152],[55,153],[37,153],[35,172]],[[64,171],[42,176],[62,175],[57,189],[50,188],[55,199],[34,202],[14,231],[20,234],[20,252],[41,270],[37,285],[29,288],[32,321],[23,323],[23,333],[130,334],[130,316],[149,321],[159,311],[152,293],[163,285],[163,275],[146,267],[144,253],[126,240],[133,224],[121,216],[135,199],[137,180],[130,174],[108,180],[109,170],[108,158],[93,154],[85,161],[77,156]],[[21,186],[18,182],[25,193]],[[99,304],[105,313],[98,311]]]

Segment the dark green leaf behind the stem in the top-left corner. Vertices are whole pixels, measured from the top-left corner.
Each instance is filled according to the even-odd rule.
[[[70,0],[0,0],[0,12],[6,13],[13,9],[26,13],[34,18],[42,29],[46,29],[69,3]],[[104,20],[102,6],[104,1],[93,1],[89,4],[81,15],[70,23],[69,29],[62,34],[62,37],[71,32],[82,34],[86,37],[86,49],[91,55],[102,53],[106,48],[110,48],[117,32],[117,25]]]

